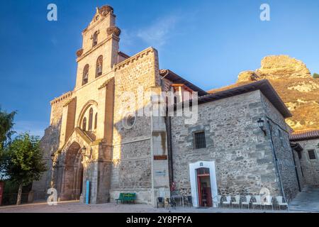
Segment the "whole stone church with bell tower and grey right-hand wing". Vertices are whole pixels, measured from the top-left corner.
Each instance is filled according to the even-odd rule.
[[[301,167],[285,123],[291,113],[266,79],[208,94],[160,70],[155,48],[121,52],[120,35],[111,6],[97,8],[82,31],[75,87],[51,101],[41,140],[49,170],[33,183],[35,199],[53,187],[60,201],[85,201],[86,182],[94,204],[112,202],[121,192],[152,205],[159,196],[192,196],[194,206],[212,206],[218,194],[254,195],[262,188],[296,196]],[[160,102],[154,99],[133,100],[138,104],[123,115],[124,102],[140,92],[167,91],[177,94],[172,116],[137,114]],[[125,92],[132,96],[123,100]],[[183,92],[198,95],[191,124],[176,114],[176,105],[186,101]]]

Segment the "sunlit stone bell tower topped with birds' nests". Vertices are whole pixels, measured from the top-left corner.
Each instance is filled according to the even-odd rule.
[[[77,50],[77,81],[75,89],[98,79],[112,70],[118,59],[121,30],[111,6],[96,8],[89,26],[82,31],[82,48]]]

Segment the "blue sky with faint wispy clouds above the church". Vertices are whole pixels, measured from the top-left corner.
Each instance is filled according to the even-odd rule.
[[[57,4],[58,21],[47,21]],[[271,21],[260,21],[259,6]],[[203,89],[233,84],[266,55],[290,55],[319,72],[319,1],[1,0],[0,105],[17,110],[15,129],[43,135],[50,100],[74,88],[75,52],[95,7],[109,4],[128,55],[153,46],[160,68]]]

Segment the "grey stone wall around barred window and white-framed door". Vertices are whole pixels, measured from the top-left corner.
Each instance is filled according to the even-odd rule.
[[[264,114],[261,92],[256,91],[199,105],[198,122],[191,126],[184,125],[183,117],[172,117],[179,193],[191,194],[190,163],[215,160],[218,194],[259,194],[262,187],[280,194],[270,140],[257,125]],[[196,131],[205,131],[206,148],[194,150]]]

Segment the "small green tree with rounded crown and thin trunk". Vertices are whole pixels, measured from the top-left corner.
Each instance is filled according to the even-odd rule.
[[[28,133],[20,134],[7,146],[5,156],[7,160],[5,173],[11,181],[19,185],[16,204],[20,205],[22,187],[39,180],[46,171],[40,140]]]

